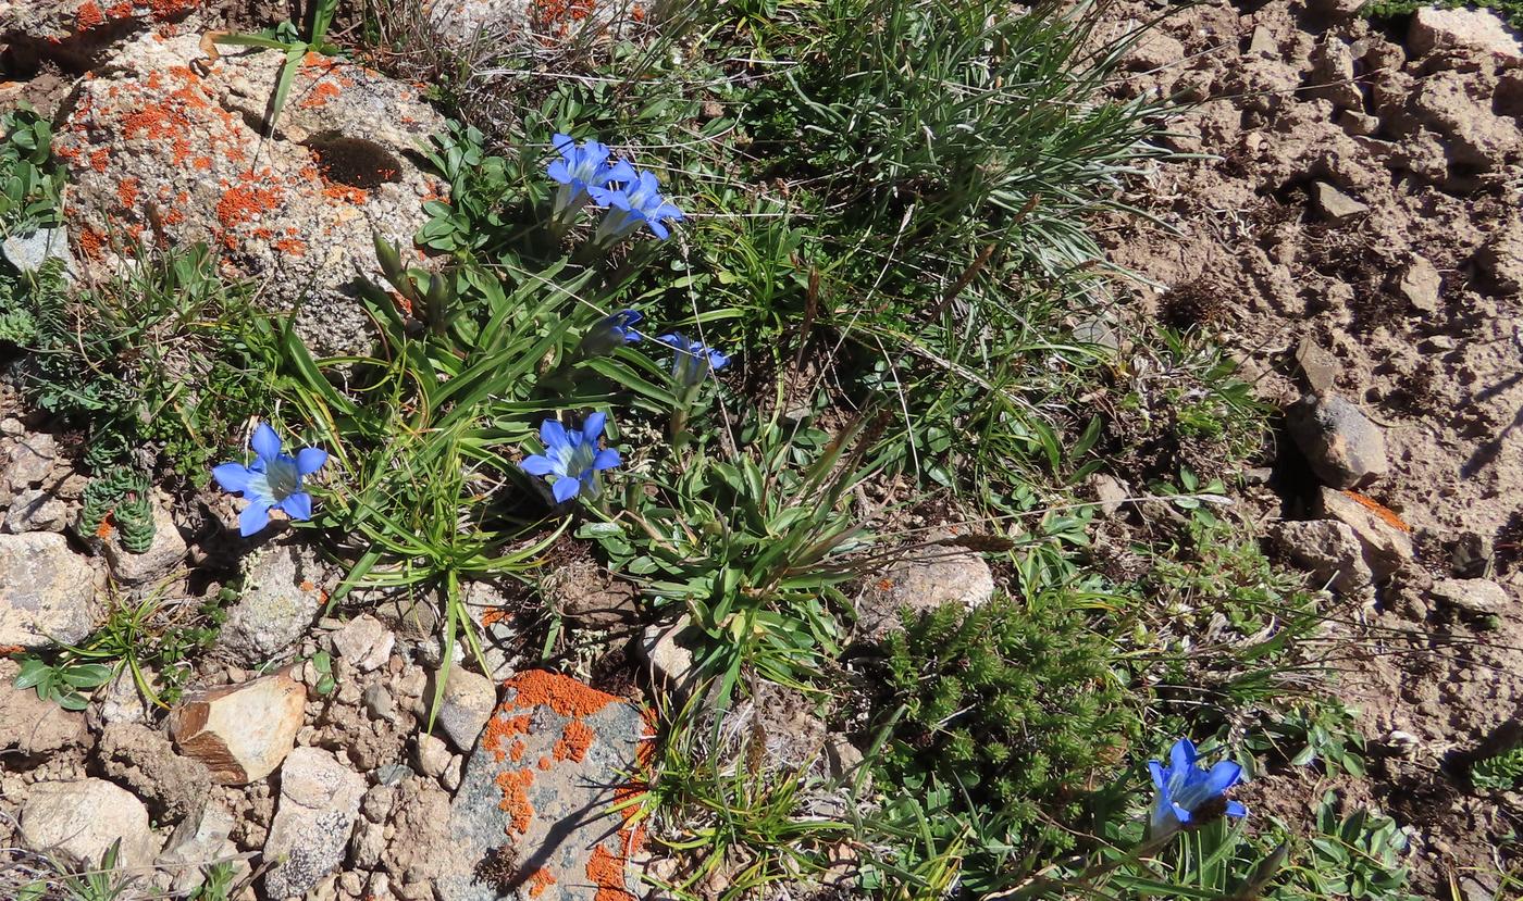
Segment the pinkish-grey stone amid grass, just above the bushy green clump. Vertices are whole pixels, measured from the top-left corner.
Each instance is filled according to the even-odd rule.
[[[995,574],[976,552],[952,537],[909,548],[882,577],[870,580],[857,600],[864,638],[879,641],[900,627],[900,610],[934,610],[943,604],[973,609],[995,597]]]

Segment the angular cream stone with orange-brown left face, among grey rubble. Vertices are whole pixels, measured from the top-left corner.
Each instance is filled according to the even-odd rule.
[[[263,779],[291,753],[306,691],[277,673],[187,699],[169,714],[180,750],[204,763],[219,785]]]

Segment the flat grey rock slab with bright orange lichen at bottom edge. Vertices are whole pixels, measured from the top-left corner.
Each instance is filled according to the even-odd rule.
[[[545,671],[504,683],[466,764],[449,831],[469,872],[440,878],[448,901],[634,901],[629,858],[643,829],[614,811],[640,788],[652,734],[638,708]]]

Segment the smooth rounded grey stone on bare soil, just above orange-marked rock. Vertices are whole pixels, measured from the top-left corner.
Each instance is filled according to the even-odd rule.
[[[1352,489],[1386,475],[1386,435],[1359,406],[1336,394],[1308,394],[1285,411],[1290,437],[1311,472],[1334,489]]]

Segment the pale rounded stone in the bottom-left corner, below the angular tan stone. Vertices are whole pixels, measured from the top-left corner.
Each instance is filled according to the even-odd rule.
[[[148,808],[105,779],[38,782],[21,808],[21,843],[32,851],[64,851],[85,866],[99,864],[117,839],[117,864],[148,866],[158,836],[148,828]]]

